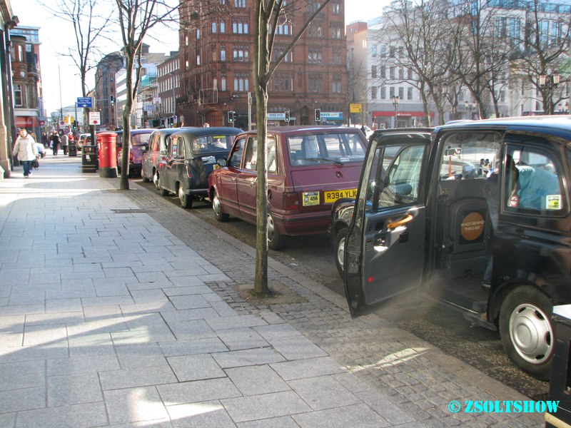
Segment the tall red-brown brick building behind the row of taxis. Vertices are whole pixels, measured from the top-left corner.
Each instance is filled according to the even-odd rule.
[[[293,2],[288,20],[277,29],[273,57],[290,44],[308,19],[313,4]],[[216,12],[214,12],[216,10]],[[248,93],[253,96],[253,0],[185,0],[181,3],[181,88],[177,111],[188,126],[228,125],[228,111],[236,111],[236,126],[248,128]],[[280,63],[268,88],[268,123],[342,123],[346,115],[344,2],[332,0],[313,20],[293,50]],[[186,23],[186,24],[184,24]],[[251,107],[256,122],[256,107]],[[278,113],[273,114],[271,113]]]

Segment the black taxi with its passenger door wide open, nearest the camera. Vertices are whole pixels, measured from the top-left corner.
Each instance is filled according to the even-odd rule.
[[[422,287],[549,377],[552,307],[571,303],[570,167],[571,116],[377,131],[353,213],[336,207],[351,315]]]

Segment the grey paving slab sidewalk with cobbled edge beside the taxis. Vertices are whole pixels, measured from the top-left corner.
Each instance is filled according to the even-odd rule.
[[[1,427],[538,427],[526,399],[133,183],[44,158],[0,182]]]

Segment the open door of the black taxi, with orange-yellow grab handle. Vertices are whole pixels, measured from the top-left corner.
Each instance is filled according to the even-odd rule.
[[[352,317],[418,287],[426,257],[429,129],[376,133],[345,241],[345,297]]]

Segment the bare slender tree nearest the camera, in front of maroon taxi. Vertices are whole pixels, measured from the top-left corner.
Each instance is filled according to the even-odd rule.
[[[258,153],[256,161],[258,162],[257,173],[258,181],[256,188],[256,274],[254,278],[254,292],[267,294],[268,287],[268,169],[266,165],[266,136],[268,134],[268,84],[273,72],[276,71],[278,64],[293,49],[303,32],[311,24],[311,21],[318,16],[330,0],[324,0],[323,3],[316,2],[313,4],[315,9],[313,13],[305,16],[302,23],[296,22],[298,25],[298,33],[293,36],[292,41],[281,52],[275,60],[273,60],[274,41],[276,39],[276,31],[279,26],[290,20],[294,8],[302,6],[305,3],[295,1],[285,6],[284,0],[255,0],[255,28],[254,28],[254,61],[253,61],[253,78],[254,93],[256,95],[256,127],[258,128]],[[308,3],[312,6],[312,3]],[[303,14],[300,14],[303,16]]]

